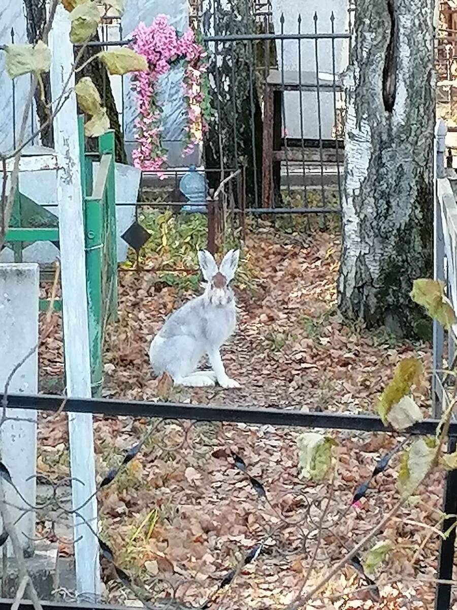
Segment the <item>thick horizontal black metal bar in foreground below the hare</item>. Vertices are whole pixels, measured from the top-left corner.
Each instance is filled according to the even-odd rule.
[[[0,402],[2,401],[0,394]],[[34,411],[58,411],[65,400],[62,396],[10,394],[8,406]],[[333,428],[337,430],[363,430],[366,432],[392,432],[375,415],[345,413],[315,413],[286,409],[259,409],[257,407],[223,407],[207,404],[152,403],[110,398],[66,398],[63,411],[93,413],[95,415],[132,415],[161,419],[184,419],[199,422],[232,422],[297,428]],[[436,432],[439,420],[425,419],[408,429],[408,434],[430,435]],[[404,434],[404,433],[402,433]],[[457,422],[449,428],[450,436],[457,436]]]

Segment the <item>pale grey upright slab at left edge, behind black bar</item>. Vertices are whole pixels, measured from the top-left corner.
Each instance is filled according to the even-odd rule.
[[[39,272],[37,264],[0,264],[0,388],[13,368],[38,343]],[[35,350],[19,368],[9,385],[9,393],[38,393],[38,351]],[[37,412],[24,409],[7,409],[8,420],[0,428],[1,459],[9,469],[13,483],[26,499],[35,506],[37,479]],[[27,419],[27,422],[21,419]],[[34,553],[35,512],[19,498],[15,490],[4,485],[5,498],[10,502],[13,521],[28,512],[18,523],[18,534],[24,553]],[[13,555],[9,545],[8,554]]]

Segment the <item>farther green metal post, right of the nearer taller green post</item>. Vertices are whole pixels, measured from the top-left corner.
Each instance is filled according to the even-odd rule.
[[[105,213],[107,214],[107,223],[105,224],[105,243],[108,244],[109,251],[105,256],[108,257],[108,286],[112,285],[110,292],[109,307],[110,318],[118,319],[118,249],[116,243],[116,188],[115,188],[115,134],[113,131],[108,131],[106,134],[99,137],[99,152],[100,154],[110,154],[111,163],[108,171],[108,182],[106,185]]]

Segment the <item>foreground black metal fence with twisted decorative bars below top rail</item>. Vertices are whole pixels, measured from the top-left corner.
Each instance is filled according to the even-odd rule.
[[[0,396],[0,400],[3,400],[3,397]],[[10,395],[6,402],[8,407],[24,409],[24,417],[27,417],[27,411],[40,410],[47,414],[48,418],[53,413],[62,411],[93,413],[111,418],[119,432],[111,437],[114,451],[109,459],[111,465],[108,461],[107,470],[100,473],[97,486],[101,528],[97,531],[96,524],[85,523],[87,530],[84,536],[97,537],[105,573],[108,567],[111,580],[116,581],[118,598],[136,600],[136,603],[140,601],[151,610],[233,607],[243,609],[261,608],[265,607],[265,604],[269,608],[299,608],[302,598],[300,589],[305,584],[303,578],[297,576],[294,586],[284,584],[291,576],[291,570],[293,573],[292,566],[296,565],[297,561],[303,562],[305,573],[313,564],[318,572],[317,577],[320,578],[319,575],[325,575],[342,557],[346,562],[341,569],[345,569],[345,565],[350,566],[356,575],[355,590],[369,591],[377,598],[378,584],[367,576],[363,569],[363,551],[366,549],[363,546],[358,548],[364,534],[350,531],[347,522],[350,511],[354,510],[353,500],[369,495],[373,511],[371,516],[375,519],[370,531],[380,532],[391,519],[388,517],[388,511],[383,513],[387,492],[381,493],[384,479],[391,478],[391,460],[411,438],[418,434],[433,435],[439,424],[438,420],[423,420],[399,434],[386,428],[379,418],[372,415],[160,402],[74,398],[63,400],[62,397],[43,395]],[[124,419],[126,417],[127,420]],[[136,418],[136,421],[132,420],[132,417]],[[122,418],[122,425],[116,426],[113,418]],[[121,420],[118,422],[121,423]],[[124,432],[121,432],[123,428],[131,432],[128,440]],[[347,462],[342,462],[338,484],[330,480],[316,486],[300,479],[300,467],[295,451],[297,433],[310,428],[330,431],[341,447],[345,447],[346,455],[352,453],[358,456],[360,473],[364,474],[348,478],[347,475],[352,473],[346,470]],[[348,434],[348,431],[351,433]],[[370,435],[376,436],[378,432],[384,436],[392,436],[390,448],[385,453],[379,453],[376,449],[381,445],[385,446],[385,440],[378,445],[374,442],[375,448],[370,448]],[[450,439],[455,439],[457,423],[451,423],[449,435]],[[163,512],[157,537],[159,540],[171,540],[178,536],[181,541],[180,569],[175,572],[172,570],[173,573],[170,574],[172,545],[166,547],[162,544],[160,555],[163,566],[159,573],[151,576],[147,582],[139,580],[138,575],[133,578],[133,565],[128,565],[125,559],[119,565],[118,553],[113,550],[110,541],[115,530],[121,527],[122,519],[129,515],[129,508],[126,507],[126,511],[121,512],[123,517],[118,517],[113,522],[109,509],[105,511],[104,507],[105,502],[113,503],[112,493],[116,493],[116,481],[125,473],[133,459],[144,465],[157,462],[157,476],[163,470],[159,479],[153,476],[147,483],[155,489],[156,506]],[[2,484],[14,489],[20,487],[22,482],[15,481],[13,475],[14,465],[1,466]],[[171,478],[165,474],[167,469],[172,475]],[[186,483],[188,489],[191,489],[190,503],[183,503],[182,500],[179,472],[183,469],[188,479],[191,479]],[[368,473],[371,474],[366,476]],[[453,484],[455,475],[455,472],[451,472],[447,479],[444,509],[447,518],[442,525],[443,531],[453,531],[457,501],[457,486]],[[344,483],[345,480],[349,483]],[[62,486],[68,489],[68,486],[77,485],[79,482],[69,476],[60,480],[52,471],[48,475],[40,475],[40,481],[51,489],[49,498],[41,500],[40,506],[26,506],[23,513],[37,511],[41,515],[41,522],[48,523],[48,529],[43,531],[41,537],[49,539],[51,536],[55,541],[58,535],[56,536],[54,525],[58,519],[71,511],[79,514],[78,507],[68,508],[59,500],[57,490],[62,490]],[[112,489],[112,493],[105,493],[107,489]],[[123,497],[126,497],[125,492]],[[138,512],[138,506],[133,500],[130,505],[133,512]],[[241,511],[239,507],[243,507]],[[46,511],[47,508],[49,511]],[[48,514],[49,512],[51,514]],[[202,518],[204,515],[208,525],[201,532],[199,530],[200,533],[194,531],[190,539],[187,539],[184,522],[188,525],[193,519],[191,515],[194,514],[201,514]],[[181,515],[180,519],[175,519],[176,515]],[[365,519],[369,518],[370,513],[367,512]],[[21,517],[16,523],[18,529],[20,519]],[[51,528],[49,523],[52,524]],[[191,559],[196,553],[196,538],[198,544],[203,544],[202,559],[198,565]],[[0,536],[0,543],[4,542],[5,536]],[[79,540],[74,544],[83,542]],[[186,548],[186,544],[190,545],[189,548]],[[448,610],[454,554],[452,534],[445,536],[440,545],[435,608]],[[425,560],[430,557],[430,550],[433,548],[430,537],[428,544],[424,546],[425,550],[422,547],[422,551]],[[155,548],[154,545],[151,548]],[[422,554],[420,557],[422,558]],[[209,571],[205,569],[205,562],[208,561],[212,562]],[[416,582],[421,579],[427,582],[427,578],[430,581],[427,568],[422,572],[421,561],[417,565],[419,567],[414,576]],[[99,569],[97,565],[89,568]],[[205,576],[198,578],[199,573]],[[401,584],[402,575],[398,575],[396,581]],[[274,597],[271,597],[268,586],[268,583],[272,582],[275,583]],[[255,583],[260,583],[261,586],[256,588]],[[431,584],[432,588],[433,586]],[[110,587],[112,594],[115,593],[113,587],[114,585]],[[124,597],[121,591],[124,592]],[[67,599],[71,598],[74,591],[67,590],[66,596]],[[350,590],[336,595],[337,598],[341,596],[350,598]],[[79,598],[78,601],[84,600]],[[409,601],[408,598],[402,598],[402,607],[417,608],[417,601],[420,600],[414,597]],[[62,603],[58,599],[58,592],[54,603],[54,608],[74,607]],[[424,601],[422,607],[429,608],[430,605],[427,606]]]

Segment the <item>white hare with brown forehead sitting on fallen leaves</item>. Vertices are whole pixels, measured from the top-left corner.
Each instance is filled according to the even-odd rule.
[[[230,250],[218,268],[206,250],[198,253],[200,269],[207,282],[205,292],[177,309],[165,320],[149,348],[155,375],[164,371],[179,386],[239,387],[225,373],[219,350],[236,326],[235,297],[228,285],[238,267],[239,250]],[[197,371],[207,354],[212,370]]]

